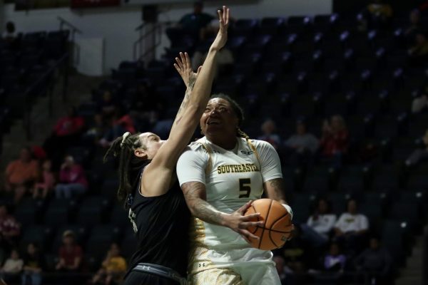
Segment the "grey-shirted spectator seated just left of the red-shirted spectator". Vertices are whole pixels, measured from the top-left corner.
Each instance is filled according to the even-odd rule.
[[[317,152],[318,146],[319,141],[315,135],[307,133],[305,120],[297,120],[296,133],[285,141],[291,164],[307,165]]]

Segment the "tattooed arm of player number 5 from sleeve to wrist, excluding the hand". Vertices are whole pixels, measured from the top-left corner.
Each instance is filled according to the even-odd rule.
[[[203,190],[202,188],[205,187],[205,185],[199,182],[189,182],[185,183],[182,187],[185,201],[195,217],[210,224],[222,224],[223,216],[221,212],[204,199],[201,199],[198,195],[198,192]]]

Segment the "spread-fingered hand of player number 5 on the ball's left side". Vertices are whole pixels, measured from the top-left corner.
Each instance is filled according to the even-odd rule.
[[[245,212],[249,207],[251,207],[251,203],[253,201],[249,201],[244,204],[243,207],[240,207],[232,214],[229,214],[225,217],[226,225],[233,231],[238,232],[248,243],[250,243],[250,238],[259,239],[258,236],[255,236],[251,232],[248,231],[248,227],[263,227],[264,222],[258,221],[258,217],[260,217],[260,213],[248,214],[244,216]]]

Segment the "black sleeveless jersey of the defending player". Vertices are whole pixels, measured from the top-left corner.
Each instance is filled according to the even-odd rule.
[[[146,262],[167,266],[186,276],[190,211],[183,192],[175,182],[164,195],[143,197],[140,181],[138,177],[134,183],[129,214],[138,241],[129,269]]]

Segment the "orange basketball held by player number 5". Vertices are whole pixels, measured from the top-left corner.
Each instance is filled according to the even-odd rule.
[[[259,221],[265,221],[264,227],[248,227],[248,231],[260,237],[250,239],[251,246],[256,249],[272,250],[282,247],[292,231],[290,214],[280,202],[272,199],[258,199],[245,212],[260,213]]]

